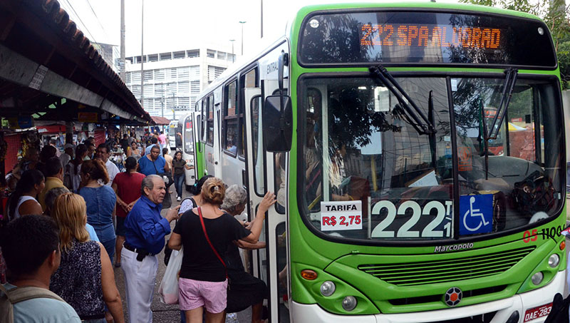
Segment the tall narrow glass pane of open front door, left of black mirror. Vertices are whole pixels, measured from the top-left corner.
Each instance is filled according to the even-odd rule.
[[[253,149],[253,162],[254,162],[254,186],[255,193],[263,196],[265,193],[264,185],[264,152],[263,152],[263,138],[261,137],[263,131],[259,129],[261,121],[261,96],[252,99],[252,149]]]

